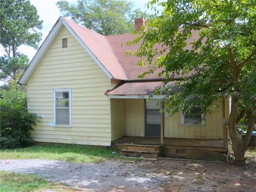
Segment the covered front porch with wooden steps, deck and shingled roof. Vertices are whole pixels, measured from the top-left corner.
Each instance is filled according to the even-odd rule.
[[[161,110],[163,102],[157,105],[163,95],[149,99],[157,84],[161,82],[124,83],[106,93],[111,105],[112,145],[125,156],[226,161],[228,102],[223,100],[204,120],[198,109],[194,116],[185,116],[181,109],[169,116]]]

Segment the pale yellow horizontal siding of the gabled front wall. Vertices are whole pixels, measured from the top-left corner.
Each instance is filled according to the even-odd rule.
[[[68,47],[62,48],[62,38]],[[71,88],[72,127],[53,126],[53,89]],[[110,79],[63,27],[27,83],[28,108],[42,116],[35,141],[110,145]]]

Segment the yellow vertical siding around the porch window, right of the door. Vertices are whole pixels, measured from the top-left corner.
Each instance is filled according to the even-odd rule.
[[[205,125],[181,125],[181,110],[164,118],[164,137],[191,139],[222,139],[222,103],[206,115]]]

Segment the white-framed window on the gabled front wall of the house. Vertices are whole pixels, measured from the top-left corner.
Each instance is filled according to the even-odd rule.
[[[71,89],[53,90],[53,124],[71,127]]]

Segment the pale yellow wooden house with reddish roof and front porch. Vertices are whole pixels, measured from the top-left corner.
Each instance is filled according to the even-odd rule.
[[[142,19],[135,20],[137,29],[141,25]],[[195,32],[189,41],[197,37]],[[102,36],[58,19],[19,79],[27,85],[29,111],[42,117],[31,133],[33,139],[114,145],[128,156],[225,160],[228,101],[205,121],[198,107],[193,114],[160,113],[156,101],[162,96],[148,98],[163,79],[157,74],[138,79],[147,67],[137,65],[140,58],[125,54],[138,49],[139,45],[126,46],[133,38]]]

